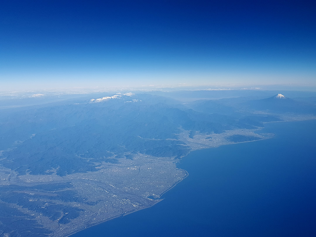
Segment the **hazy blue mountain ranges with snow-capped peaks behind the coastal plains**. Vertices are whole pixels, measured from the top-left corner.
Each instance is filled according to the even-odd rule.
[[[255,113],[254,111],[265,113]],[[263,100],[179,101],[150,94],[116,94],[82,103],[3,109],[0,164],[21,174],[95,171],[101,162],[118,163],[133,154],[182,157],[190,147],[183,130],[212,134],[254,129],[280,121],[282,113],[315,114],[315,106],[276,95]],[[250,141],[251,137],[229,137]],[[1,158],[0,157],[0,158]]]

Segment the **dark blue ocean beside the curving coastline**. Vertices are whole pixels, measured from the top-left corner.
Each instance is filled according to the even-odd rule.
[[[73,237],[316,236],[316,120],[262,132],[276,136],[191,152],[163,201]]]

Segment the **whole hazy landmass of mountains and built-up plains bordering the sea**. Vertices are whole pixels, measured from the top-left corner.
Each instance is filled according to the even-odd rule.
[[[302,103],[291,99],[285,112],[277,112],[258,110],[277,108],[275,98],[183,103],[150,94],[114,95],[94,97],[100,98],[96,103],[81,98],[3,110],[0,206],[12,215],[0,216],[0,236],[64,236],[151,206],[185,177],[175,161],[192,149],[269,138],[257,133],[264,123],[282,121],[288,111],[305,116],[295,109]]]

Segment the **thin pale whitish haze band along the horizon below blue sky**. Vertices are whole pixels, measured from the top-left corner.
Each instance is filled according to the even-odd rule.
[[[0,96],[1,95],[14,95],[14,94],[25,94],[25,93],[62,93],[62,94],[90,94],[90,93],[106,93],[106,92],[152,92],[152,91],[316,91],[316,84],[299,84],[299,83],[288,83],[288,84],[266,84],[266,85],[252,85],[252,84],[212,84],[212,85],[190,85],[186,83],[180,84],[161,84],[161,85],[141,85],[141,86],[130,86],[130,85],[104,85],[102,83],[96,85],[74,85],[74,84],[63,84],[55,86],[33,86],[11,83],[4,84],[0,83]]]

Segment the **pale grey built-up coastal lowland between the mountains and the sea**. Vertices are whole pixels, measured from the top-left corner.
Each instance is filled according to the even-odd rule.
[[[183,130],[179,140],[196,150],[273,137],[271,133],[260,134],[259,131],[260,128],[239,129],[190,136],[190,131]],[[2,202],[2,205],[17,208],[21,215],[29,216],[47,230],[47,236],[67,236],[155,205],[162,200],[163,193],[188,175],[177,167],[180,158],[145,154],[127,157],[130,159],[101,162],[94,172],[62,177],[56,170],[49,170],[51,174],[45,175],[19,175],[1,167],[0,185],[5,188],[2,196],[10,198],[14,194],[19,198],[17,204]],[[28,205],[34,208],[25,208]]]

